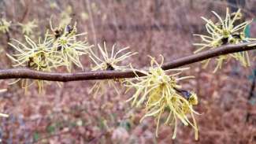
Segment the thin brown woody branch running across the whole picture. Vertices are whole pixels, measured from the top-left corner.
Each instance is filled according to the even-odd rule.
[[[252,46],[255,45],[255,46]],[[225,45],[217,47],[213,50],[206,50],[202,53],[192,54],[187,57],[181,57],[174,61],[165,63],[162,68],[168,70],[178,68],[180,66],[189,65],[198,61],[203,61],[211,57],[217,57],[224,54],[232,54],[246,50],[256,50],[256,41],[244,42],[237,45]],[[139,76],[142,73],[136,72]],[[120,79],[135,77],[132,71],[91,71],[91,72],[75,72],[75,73],[57,73],[57,72],[39,72],[28,68],[10,68],[0,70],[0,79],[43,79],[49,81],[79,81],[93,79]]]

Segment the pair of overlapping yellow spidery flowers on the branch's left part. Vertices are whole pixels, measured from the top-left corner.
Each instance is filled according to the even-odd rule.
[[[38,42],[34,42],[25,35],[27,44],[12,39],[17,44],[9,43],[9,45],[16,50],[16,53],[7,54],[7,56],[16,63],[14,67],[25,66],[38,71],[50,72],[53,68],[65,66],[70,72],[72,64],[83,68],[79,56],[87,54],[87,50],[91,48],[87,42],[77,40],[80,35],[84,34],[76,34],[76,24],[66,25],[58,34],[56,31],[49,34],[47,30],[43,41],[39,38]],[[24,79],[22,83],[26,89],[33,83],[37,83],[39,92],[43,90],[43,80],[34,80],[29,83],[28,79]]]

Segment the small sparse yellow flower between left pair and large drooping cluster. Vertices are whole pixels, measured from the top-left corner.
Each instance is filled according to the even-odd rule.
[[[120,71],[123,71],[125,69],[128,69],[128,65],[121,66],[120,65],[121,61],[124,61],[128,57],[131,57],[132,55],[137,54],[137,53],[132,53],[132,52],[127,52],[125,54],[121,54],[125,50],[128,50],[129,49],[128,47],[125,47],[116,52],[115,45],[112,46],[111,53],[109,54],[107,51],[107,48],[106,48],[106,42],[104,42],[103,45],[104,45],[103,49],[102,49],[102,46],[98,45],[98,50],[101,54],[101,57],[96,56],[96,54],[93,51],[91,51],[91,53],[90,53],[91,55],[89,57],[95,63],[95,66],[91,68],[92,71],[97,71],[97,70],[108,70],[108,71],[120,70]],[[120,81],[120,80],[121,79],[98,81],[91,88],[89,93],[94,92],[94,95],[96,95],[100,91],[103,94],[105,92],[104,86],[106,84],[108,84],[109,87],[114,87],[117,94],[119,94],[119,91],[117,90],[117,87],[115,86],[114,81]]]

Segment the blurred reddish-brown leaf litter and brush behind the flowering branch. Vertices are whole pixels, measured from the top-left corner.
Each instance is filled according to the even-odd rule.
[[[20,24],[35,20],[37,27],[32,37],[38,38],[66,16],[77,22],[79,32],[87,31],[91,44],[106,41],[109,49],[130,46],[139,55],[128,60],[136,68],[150,63],[149,57],[162,54],[165,61],[193,54],[193,34],[206,34],[200,17],[215,18],[211,10],[222,17],[226,7],[236,12],[242,9],[246,20],[256,16],[256,0],[0,0],[0,17],[12,21],[7,33],[0,33],[0,68],[11,68],[6,57],[12,49],[10,38],[24,41]],[[247,35],[256,37],[256,22],[247,28]],[[250,57],[256,51],[250,51]],[[159,60],[160,57],[157,59]],[[85,70],[90,69],[87,57],[81,61]],[[254,60],[255,61],[255,60]],[[176,139],[173,129],[161,126],[158,138],[154,135],[153,118],[139,123],[142,109],[134,109],[125,102],[130,94],[117,95],[113,87],[93,98],[88,90],[94,81],[79,81],[47,85],[44,94],[30,87],[28,94],[19,84],[9,86],[13,79],[1,80],[1,87],[8,89],[0,94],[2,143],[256,143],[256,64],[244,68],[237,61],[229,61],[213,73],[214,61],[206,69],[201,63],[189,65],[184,76],[195,79],[181,83],[187,90],[195,90],[201,115],[196,116],[199,140],[194,140],[191,127],[179,124]],[[76,72],[81,71],[76,68]],[[117,86],[118,87],[118,86]],[[121,88],[120,88],[121,89]]]

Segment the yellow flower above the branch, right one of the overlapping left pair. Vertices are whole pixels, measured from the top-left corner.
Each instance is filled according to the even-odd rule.
[[[50,30],[52,34],[48,35],[48,41],[53,43],[53,49],[56,55],[62,57],[62,63],[68,69],[72,70],[72,64],[83,69],[83,65],[80,62],[80,56],[88,54],[88,50],[92,46],[85,40],[78,40],[78,37],[87,35],[86,32],[76,34],[76,23],[74,25],[68,24],[65,27],[61,25],[58,28],[53,28],[50,18]]]

